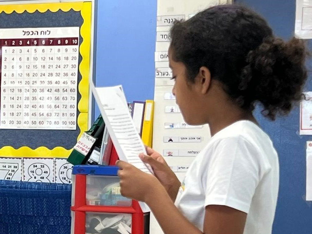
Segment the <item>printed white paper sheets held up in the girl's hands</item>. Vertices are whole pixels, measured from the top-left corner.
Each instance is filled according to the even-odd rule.
[[[124,93],[120,86],[93,86],[92,92],[119,158],[146,173],[151,173],[152,168],[139,158],[140,153],[146,154],[145,147],[123,100]]]

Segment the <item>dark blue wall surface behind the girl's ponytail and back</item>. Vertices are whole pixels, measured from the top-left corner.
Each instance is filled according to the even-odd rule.
[[[295,0],[236,0],[252,7],[266,18],[275,35],[285,40],[295,32]],[[311,44],[311,40],[308,40]],[[312,46],[309,45],[310,50]],[[307,61],[311,70],[312,61]],[[312,91],[312,79],[306,83],[305,91]],[[312,136],[299,135],[299,107],[294,108],[287,117],[274,122],[261,116],[260,107],[255,111],[261,127],[270,135],[279,154],[280,188],[276,207],[273,234],[311,234],[312,202],[305,201],[306,182],[306,141]]]

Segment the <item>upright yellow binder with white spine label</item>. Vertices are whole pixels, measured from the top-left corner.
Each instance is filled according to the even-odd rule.
[[[145,145],[152,147],[153,142],[153,119],[154,119],[154,101],[145,101],[144,121],[142,130],[142,141]]]

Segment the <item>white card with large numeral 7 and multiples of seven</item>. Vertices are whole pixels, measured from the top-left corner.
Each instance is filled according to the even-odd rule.
[[[22,180],[22,158],[0,158],[0,180]]]

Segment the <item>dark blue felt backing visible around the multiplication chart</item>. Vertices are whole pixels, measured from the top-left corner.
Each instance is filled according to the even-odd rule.
[[[23,12],[21,14],[12,12],[6,14],[0,13],[0,28],[25,28],[25,27],[80,27],[83,24],[83,18],[80,12],[70,10],[63,12],[46,11],[44,13]],[[80,36],[80,44],[82,37]],[[79,55],[79,64],[82,57]],[[81,80],[81,74],[78,72],[78,84]],[[77,101],[81,95],[77,92]],[[77,109],[77,116],[79,111]],[[61,146],[71,149],[77,142],[80,129],[77,125],[76,130],[28,130],[28,129],[1,129],[0,130],[0,148],[10,145],[15,149],[22,146],[28,146],[36,149],[45,146],[49,149]],[[27,155],[21,155],[27,156]]]

